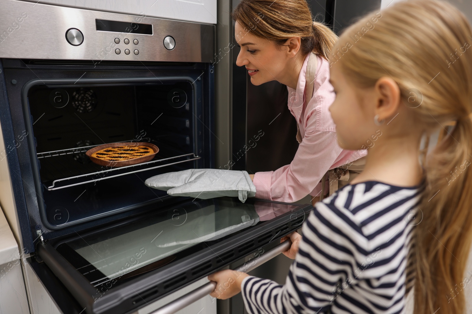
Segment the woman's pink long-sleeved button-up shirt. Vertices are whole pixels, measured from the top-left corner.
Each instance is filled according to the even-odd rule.
[[[329,170],[355,161],[367,150],[350,151],[339,147],[336,126],[331,119],[329,106],[335,99],[329,83],[329,62],[318,56],[314,78],[313,96],[304,103],[305,72],[308,56],[298,75],[296,90],[288,89],[288,109],[295,117],[302,143],[298,146],[294,160],[275,171],[256,172],[253,183],[256,197],[270,201],[294,202],[306,195],[319,196],[321,177]],[[294,134],[294,140],[295,139]],[[329,190],[329,182],[325,191]]]

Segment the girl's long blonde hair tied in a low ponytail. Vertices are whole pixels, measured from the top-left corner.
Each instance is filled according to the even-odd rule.
[[[440,0],[413,0],[351,25],[330,57],[359,87],[392,77],[428,134],[456,121],[424,165],[426,189],[416,217],[422,220],[409,258],[415,314],[465,309],[462,289],[472,235],[471,42],[471,27],[457,8]]]

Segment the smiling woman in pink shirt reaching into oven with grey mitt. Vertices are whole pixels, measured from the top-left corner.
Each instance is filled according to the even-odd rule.
[[[254,85],[274,80],[287,85],[288,109],[297,121],[300,143],[294,160],[250,179],[246,171],[189,169],[151,177],[146,185],[170,195],[228,195],[241,201],[254,191],[257,198],[284,202],[310,194],[314,204],[358,175],[367,154],[367,145],[357,151],[339,147],[328,111],[335,94],[327,58],[337,36],[312,21],[306,0],[243,0],[233,18],[241,47],[236,64],[247,69]]]

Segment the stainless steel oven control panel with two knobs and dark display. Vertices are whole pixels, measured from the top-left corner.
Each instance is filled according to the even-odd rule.
[[[0,29],[8,29],[10,20],[21,27],[0,38],[1,58],[207,63],[215,59],[213,24],[44,3],[26,10],[28,5],[0,0]]]

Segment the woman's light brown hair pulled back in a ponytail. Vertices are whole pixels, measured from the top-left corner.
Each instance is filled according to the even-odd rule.
[[[329,27],[313,22],[306,0],[242,0],[232,15],[245,33],[273,40],[280,46],[290,37],[300,37],[303,56],[314,52],[328,59],[337,40]]]

